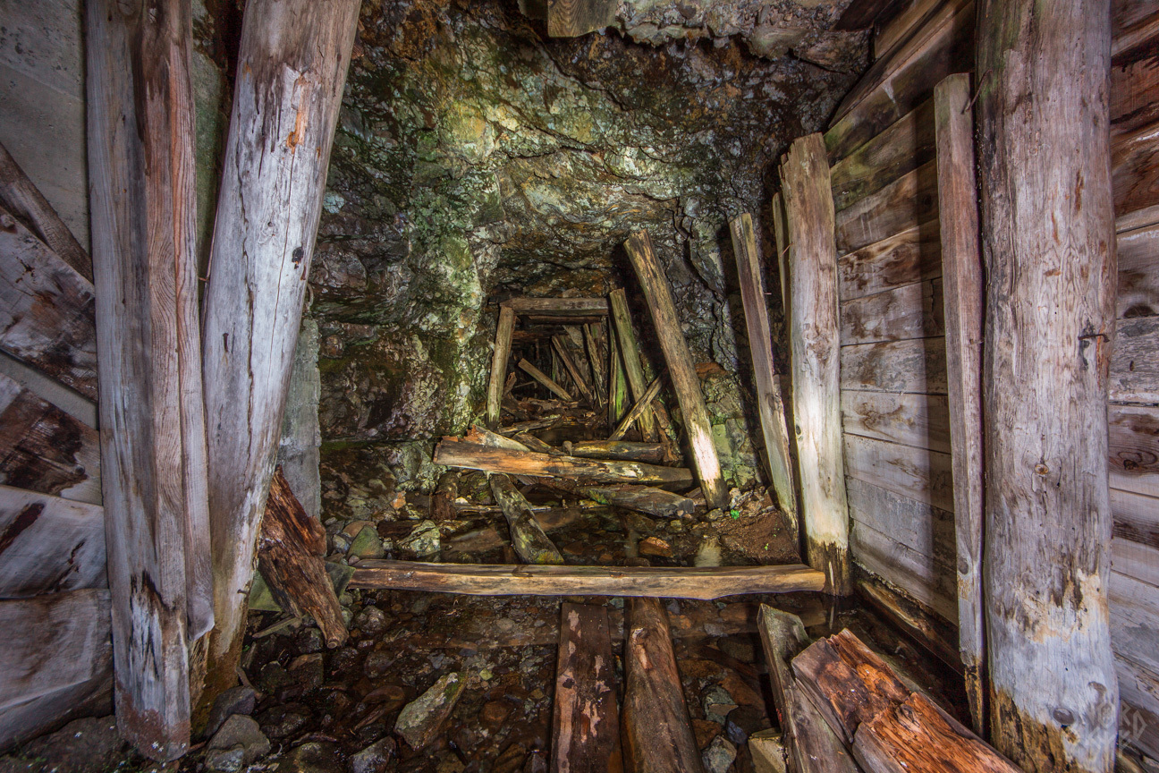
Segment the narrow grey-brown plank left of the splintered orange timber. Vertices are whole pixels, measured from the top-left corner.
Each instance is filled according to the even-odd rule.
[[[804,625],[795,614],[761,604],[758,618],[760,643],[768,664],[768,681],[786,754],[793,773],[857,773],[841,739],[806,698],[789,665],[809,646]]]

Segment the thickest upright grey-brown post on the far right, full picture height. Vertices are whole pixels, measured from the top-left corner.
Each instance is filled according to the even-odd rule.
[[[983,0],[977,41],[991,741],[1026,771],[1109,773],[1108,3]]]

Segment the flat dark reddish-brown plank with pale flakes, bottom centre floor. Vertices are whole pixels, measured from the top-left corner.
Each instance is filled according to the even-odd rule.
[[[552,713],[554,773],[621,773],[620,713],[607,607],[560,605]]]

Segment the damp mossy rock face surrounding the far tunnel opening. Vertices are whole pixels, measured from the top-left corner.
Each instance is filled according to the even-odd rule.
[[[845,5],[630,1],[605,34],[549,39],[513,2],[364,2],[309,277],[323,439],[464,430],[488,299],[624,283],[648,338],[620,247],[639,228],[694,358],[741,367],[727,219],[763,212],[779,153],[863,66],[860,37],[828,31]]]

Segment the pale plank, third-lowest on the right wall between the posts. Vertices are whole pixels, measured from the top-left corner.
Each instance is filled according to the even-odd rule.
[[[846,435],[845,474],[942,510],[954,510],[948,453]]]

